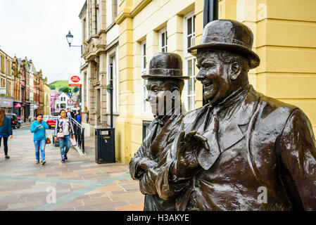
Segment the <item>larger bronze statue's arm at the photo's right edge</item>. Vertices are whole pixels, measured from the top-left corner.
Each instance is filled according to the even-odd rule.
[[[294,208],[316,210],[316,147],[308,117],[293,110],[277,143],[280,171]]]

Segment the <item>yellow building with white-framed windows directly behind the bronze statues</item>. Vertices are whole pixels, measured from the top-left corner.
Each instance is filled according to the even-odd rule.
[[[260,56],[249,80],[261,93],[300,107],[316,131],[316,1],[220,0],[219,18],[238,20],[254,34]],[[154,53],[182,56],[190,76],[182,101],[202,106],[202,85],[195,82],[196,60],[187,49],[203,32],[203,0],[122,0],[119,25],[120,116],[115,122],[116,158],[128,163],[142,141],[143,122],[153,116],[144,101],[148,62]]]

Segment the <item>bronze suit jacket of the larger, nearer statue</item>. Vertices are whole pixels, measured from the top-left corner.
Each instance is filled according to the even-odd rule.
[[[207,111],[205,105],[187,113],[179,130],[207,135]],[[203,167],[181,179],[172,174],[173,143],[156,180],[160,198],[177,196],[176,210],[316,210],[315,136],[302,110],[251,86],[217,117],[220,154],[204,154],[198,159]]]

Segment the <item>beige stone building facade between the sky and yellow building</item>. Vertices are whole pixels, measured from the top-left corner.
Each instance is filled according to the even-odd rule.
[[[94,128],[108,127],[110,96],[107,85],[113,71],[113,113],[118,116],[118,0],[87,0],[80,12],[82,21],[82,124],[87,135]]]

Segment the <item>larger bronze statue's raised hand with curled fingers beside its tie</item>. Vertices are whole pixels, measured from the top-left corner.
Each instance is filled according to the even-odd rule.
[[[185,134],[181,131],[177,141],[177,174],[179,176],[189,176],[198,168],[198,151],[202,148],[210,150],[208,139],[196,131]]]

